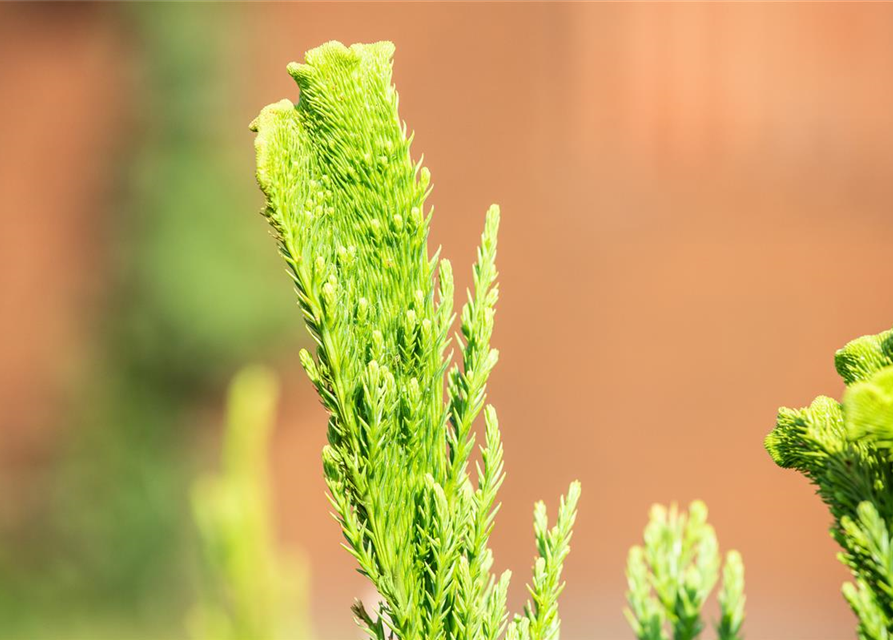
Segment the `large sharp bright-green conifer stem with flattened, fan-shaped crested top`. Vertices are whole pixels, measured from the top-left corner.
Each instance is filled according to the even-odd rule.
[[[558,638],[562,563],[580,488],[549,527],[536,506],[539,557],[523,614],[507,620],[509,572],[497,577],[488,538],[502,484],[496,411],[486,404],[499,209],[487,212],[474,291],[446,355],[450,264],[429,255],[430,174],[391,83],[394,47],[324,44],[292,63],[297,104],[261,111],[257,178],[265,214],[294,280],[315,357],[301,363],[330,417],[323,468],[345,547],[381,602],[354,613],[371,638]],[[474,423],[484,443],[474,474]]]

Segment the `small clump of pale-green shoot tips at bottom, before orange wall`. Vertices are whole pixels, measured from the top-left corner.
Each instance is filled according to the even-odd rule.
[[[701,610],[719,579],[719,546],[707,507],[695,501],[688,514],[654,505],[644,547],[630,549],[624,611],[638,640],[692,640],[704,629]],[[719,592],[720,640],[740,640],[744,621],[744,564],[726,555]],[[668,628],[672,635],[668,633]]]

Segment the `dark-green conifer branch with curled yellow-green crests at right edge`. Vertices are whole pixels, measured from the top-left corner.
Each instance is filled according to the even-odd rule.
[[[850,342],[835,363],[847,384],[843,402],[820,396],[805,409],[779,409],[766,449],[816,485],[856,580],[843,592],[859,637],[886,639],[893,632],[893,331]]]

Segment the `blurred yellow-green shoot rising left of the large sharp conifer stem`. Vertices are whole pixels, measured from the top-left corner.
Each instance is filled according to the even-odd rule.
[[[268,446],[278,391],[264,368],[239,372],[229,390],[221,470],[193,486],[204,562],[192,628],[201,640],[310,637],[305,571],[276,548],[272,531]]]

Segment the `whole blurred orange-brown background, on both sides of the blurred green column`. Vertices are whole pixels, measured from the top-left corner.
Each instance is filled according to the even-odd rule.
[[[283,295],[287,278],[256,215],[247,124],[265,104],[297,98],[285,65],[324,41],[396,44],[401,116],[435,185],[432,250],[442,245],[452,260],[457,290],[470,283],[487,206],[502,206],[502,357],[490,399],[508,478],[493,547],[496,568],[515,575],[514,609],[534,553],[533,503],[554,510],[579,478],[565,638],[631,637],[626,551],[650,504],[694,498],[709,505],[721,547],[744,556],[749,638],[854,636],[827,511],[802,477],[775,467],[762,439],[779,405],[841,393],[835,349],[893,324],[893,6],[147,11],[171,25],[198,14],[225,42],[214,71],[226,99],[194,105],[195,117],[220,123],[203,144],[236,158],[240,170],[220,179],[244,183],[253,201],[219,224],[250,219],[261,252],[231,260],[269,264]],[[43,500],[72,381],[88,368],[115,277],[121,158],[151,108],[135,70],[140,41],[119,14],[114,4],[0,7],[0,516],[9,530]],[[290,330],[304,339],[297,308]],[[328,515],[325,417],[296,356],[294,344],[256,356],[283,376],[271,449],[278,532],[308,558],[318,637],[355,638],[348,607],[368,587]],[[196,401],[208,429],[216,389]]]

